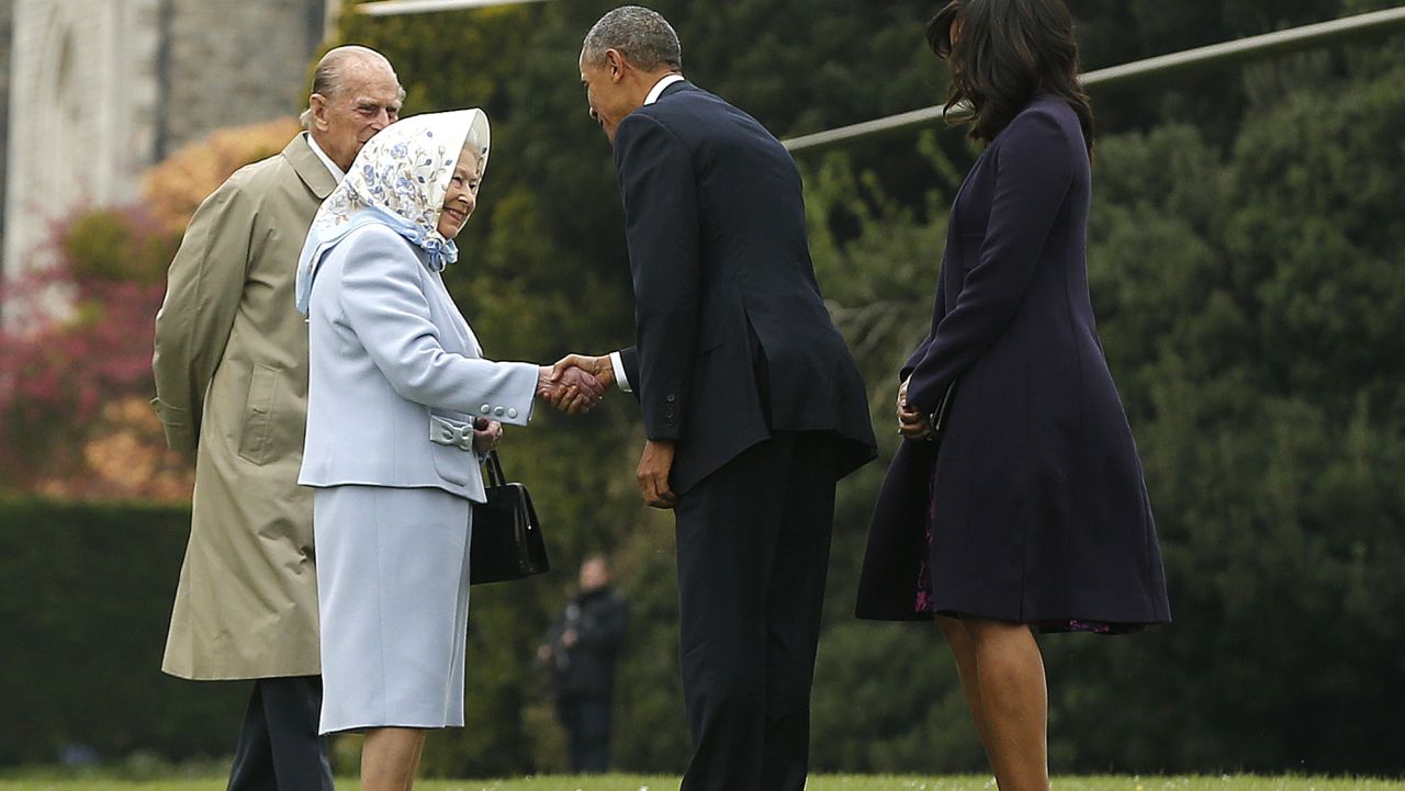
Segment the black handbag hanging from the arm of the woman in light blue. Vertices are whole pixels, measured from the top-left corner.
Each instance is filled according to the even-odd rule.
[[[489,451],[483,465],[488,468],[488,502],[473,503],[469,582],[483,584],[545,573],[551,562],[531,495],[521,483],[507,482],[497,451]]]

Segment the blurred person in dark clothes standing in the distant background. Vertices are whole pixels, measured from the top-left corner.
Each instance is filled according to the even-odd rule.
[[[604,555],[586,558],[580,590],[537,649],[537,659],[551,669],[572,771],[603,773],[610,767],[610,701],[628,621],[628,604],[611,584],[608,561]]]

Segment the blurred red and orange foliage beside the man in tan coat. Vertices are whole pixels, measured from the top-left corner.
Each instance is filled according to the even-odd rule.
[[[194,464],[166,448],[148,405],[166,267],[204,198],[296,133],[288,119],[223,129],[146,176],[143,200],[55,223],[0,284],[0,490],[183,502]]]

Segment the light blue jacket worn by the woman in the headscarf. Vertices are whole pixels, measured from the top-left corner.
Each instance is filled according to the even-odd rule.
[[[395,230],[368,225],[318,267],[299,483],[434,486],[483,502],[472,419],[525,426],[531,417],[538,367],[483,360],[424,257]]]

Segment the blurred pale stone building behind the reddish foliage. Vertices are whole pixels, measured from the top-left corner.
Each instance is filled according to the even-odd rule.
[[[140,173],[181,143],[296,114],[339,1],[0,4],[0,232],[15,274],[45,263],[52,221],[131,200]]]

